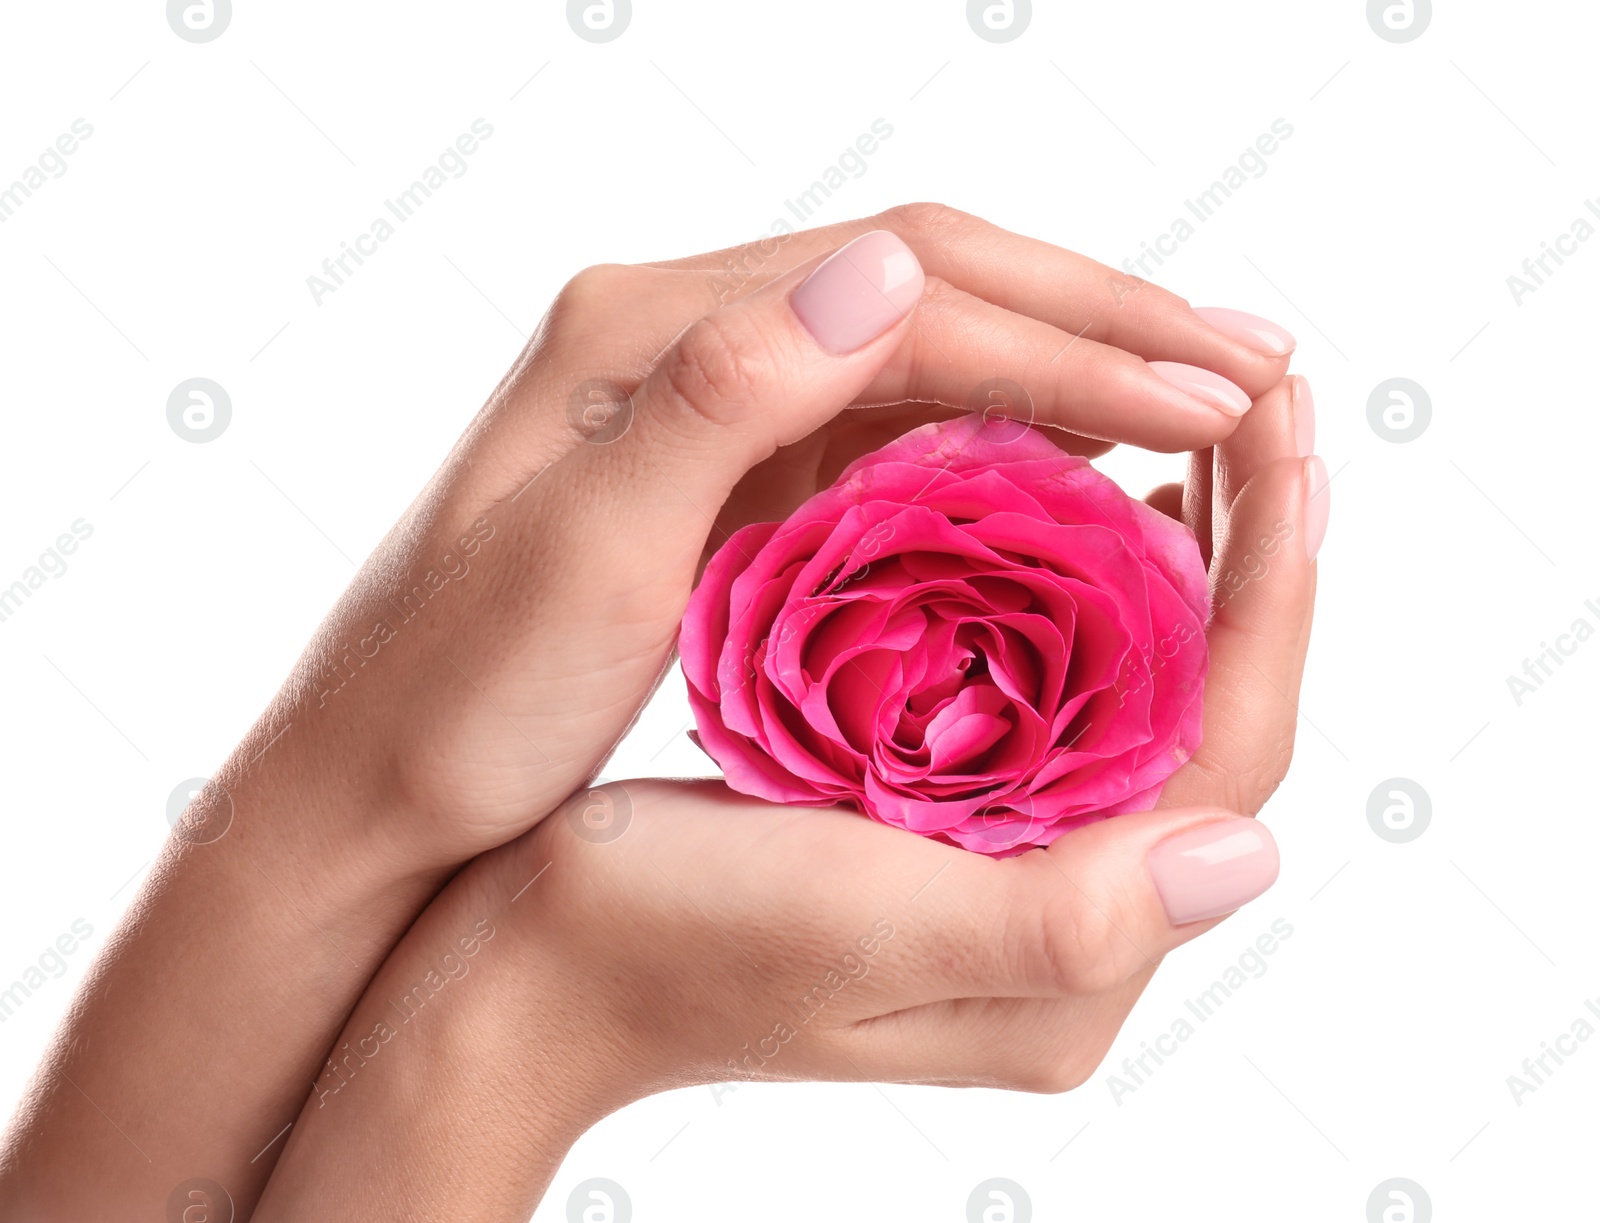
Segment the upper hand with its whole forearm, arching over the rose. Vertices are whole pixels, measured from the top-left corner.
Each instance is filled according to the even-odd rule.
[[[997,373],[1067,445],[1208,447],[1288,346],[934,207],[574,277],[168,844],[0,1148],[0,1213],[150,1212],[194,1175],[248,1210],[416,912],[637,716],[720,531]],[[890,407],[837,419],[861,403]]]

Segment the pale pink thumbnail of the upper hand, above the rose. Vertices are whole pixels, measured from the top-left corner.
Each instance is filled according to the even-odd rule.
[[[910,247],[875,229],[829,255],[789,295],[789,306],[822,349],[842,355],[904,319],[922,285]]]

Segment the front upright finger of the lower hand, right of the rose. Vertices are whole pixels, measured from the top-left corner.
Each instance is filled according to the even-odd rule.
[[[1288,772],[1326,522],[1318,458],[1274,459],[1235,496],[1211,567],[1203,740],[1162,805],[1253,813]]]

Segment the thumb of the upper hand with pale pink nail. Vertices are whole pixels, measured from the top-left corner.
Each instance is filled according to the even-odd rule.
[[[632,427],[597,458],[653,504],[666,482],[714,515],[749,467],[872,381],[922,290],[910,248],[874,231],[714,311],[672,343],[634,392]]]

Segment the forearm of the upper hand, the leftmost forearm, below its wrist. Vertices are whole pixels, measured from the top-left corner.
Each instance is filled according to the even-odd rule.
[[[358,799],[304,759],[264,764],[179,826],[91,970],[0,1149],[0,1215],[163,1218],[205,1177],[243,1218],[346,1013],[443,882],[387,861],[362,831],[378,813],[352,818]]]

